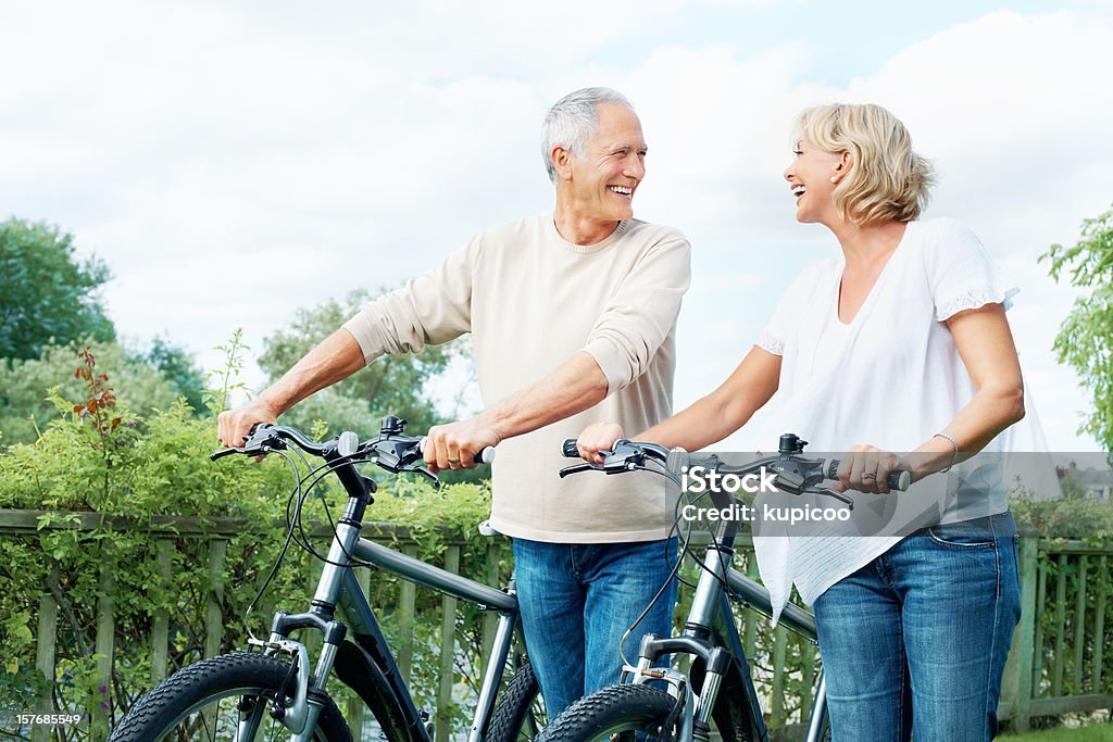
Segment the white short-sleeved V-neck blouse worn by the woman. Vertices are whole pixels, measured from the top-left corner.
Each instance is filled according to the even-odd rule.
[[[908,224],[848,325],[838,318],[843,268],[839,258],[805,269],[758,342],[758,347],[782,356],[777,393],[781,406],[771,422],[780,432],[808,441],[809,453],[845,452],[855,444],[912,451],[942,431],[975,394],[945,320],[986,304],[1003,304],[1007,309],[1018,289],[977,237],[949,218]],[[1001,449],[999,437],[986,447]],[[999,471],[994,475],[984,466],[974,471],[977,467],[971,462],[965,468],[933,475],[932,486],[937,489],[938,477],[947,477],[946,504],[942,521],[936,513],[936,522],[1006,509]],[[916,502],[894,496],[897,503]],[[834,503],[820,499],[818,504],[829,507]],[[905,523],[915,518],[916,514],[909,514]],[[811,603],[900,540],[898,535],[839,536],[823,526],[810,535],[794,531],[794,535],[770,536],[774,531],[760,530],[755,545],[777,615],[794,582],[804,601]]]

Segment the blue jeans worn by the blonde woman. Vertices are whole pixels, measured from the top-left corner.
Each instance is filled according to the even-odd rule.
[[[1009,513],[924,528],[816,600],[835,742],[983,742],[1021,615]]]

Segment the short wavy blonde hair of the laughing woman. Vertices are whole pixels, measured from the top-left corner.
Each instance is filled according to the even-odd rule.
[[[816,106],[800,112],[796,132],[797,140],[854,158],[831,195],[844,219],[910,221],[927,208],[935,169],[913,151],[908,130],[888,110],[871,103]]]

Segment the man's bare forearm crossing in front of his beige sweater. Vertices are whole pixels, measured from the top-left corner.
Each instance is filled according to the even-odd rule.
[[[500,438],[521,435],[599,404],[607,377],[590,354],[579,352],[536,384],[491,406],[480,417]]]

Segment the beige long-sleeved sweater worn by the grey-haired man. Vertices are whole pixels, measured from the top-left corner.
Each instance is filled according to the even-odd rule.
[[[676,318],[689,279],[690,247],[674,229],[626,221],[603,241],[578,246],[545,214],[477,235],[344,327],[368,363],[470,332],[484,406],[578,350],[591,354],[607,376],[607,398],[499,445],[491,522],[533,541],[651,541],[673,520],[664,479],[593,472],[561,479],[558,471],[575,462],[560,444],[590,423],[618,422],[634,435],[671,414]]]

